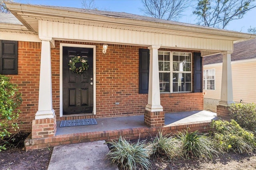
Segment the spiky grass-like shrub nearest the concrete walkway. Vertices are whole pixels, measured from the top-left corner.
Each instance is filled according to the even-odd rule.
[[[111,162],[117,163],[124,170],[136,170],[139,168],[150,169],[148,149],[145,145],[146,140],[130,143],[121,136],[118,141],[108,142],[110,145],[109,156]]]

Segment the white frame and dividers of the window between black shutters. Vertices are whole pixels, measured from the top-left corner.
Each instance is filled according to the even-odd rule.
[[[182,51],[158,51],[158,52],[170,53],[170,71],[160,71],[159,68],[158,68],[159,73],[168,73],[168,72],[170,73],[170,92],[160,92],[160,93],[191,93],[192,92],[192,53],[182,52]],[[172,68],[173,67],[173,53],[190,54],[190,57],[191,57],[191,71],[173,71],[173,68]],[[159,62],[159,60],[158,60],[158,62]],[[179,73],[179,72],[180,73],[191,74],[190,91],[173,92],[173,73]]]

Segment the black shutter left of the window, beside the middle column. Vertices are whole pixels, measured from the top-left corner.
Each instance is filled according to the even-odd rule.
[[[139,93],[148,94],[149,59],[150,59],[149,49],[139,49],[139,58],[140,58]]]

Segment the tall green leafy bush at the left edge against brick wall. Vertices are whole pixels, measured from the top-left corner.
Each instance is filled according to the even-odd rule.
[[[0,151],[5,148],[5,137],[10,137],[10,129],[19,129],[15,121],[19,117],[22,99],[16,84],[10,82],[10,78],[0,74]]]

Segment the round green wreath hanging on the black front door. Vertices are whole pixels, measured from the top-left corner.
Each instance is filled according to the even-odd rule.
[[[76,63],[81,63],[81,66],[76,68]],[[80,56],[75,56],[71,58],[68,65],[70,66],[69,69],[72,72],[76,72],[76,74],[82,74],[83,72],[85,72],[85,70],[88,70],[89,67],[87,60]]]

